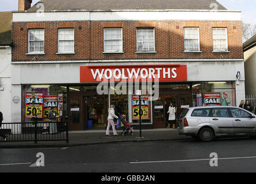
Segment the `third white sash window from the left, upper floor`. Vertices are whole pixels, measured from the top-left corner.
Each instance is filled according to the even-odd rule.
[[[122,28],[104,28],[104,52],[123,52]]]

